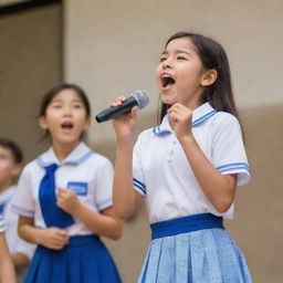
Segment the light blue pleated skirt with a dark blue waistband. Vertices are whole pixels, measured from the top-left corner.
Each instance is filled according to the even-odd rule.
[[[244,256],[222,226],[202,213],[150,226],[139,283],[251,283]]]

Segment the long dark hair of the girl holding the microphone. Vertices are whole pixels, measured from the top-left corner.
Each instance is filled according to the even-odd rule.
[[[205,90],[202,103],[209,102],[214,109],[231,113],[239,119],[233,98],[229,62],[224,49],[212,39],[189,32],[175,33],[166,42],[165,48],[172,40],[180,38],[191,39],[203,67],[206,70],[214,69],[218,73],[216,82]],[[160,123],[169,107],[170,105],[161,103],[159,111]]]

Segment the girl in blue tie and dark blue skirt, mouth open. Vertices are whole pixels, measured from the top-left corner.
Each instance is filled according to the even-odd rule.
[[[99,240],[122,234],[112,213],[113,167],[81,142],[90,115],[77,85],[43,97],[39,123],[52,147],[25,166],[13,201],[19,234],[38,244],[25,282],[120,282]]]

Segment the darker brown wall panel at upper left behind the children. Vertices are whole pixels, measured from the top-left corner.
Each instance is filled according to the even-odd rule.
[[[61,4],[1,15],[0,54],[0,136],[14,139],[28,161],[45,148],[41,97],[62,80]]]

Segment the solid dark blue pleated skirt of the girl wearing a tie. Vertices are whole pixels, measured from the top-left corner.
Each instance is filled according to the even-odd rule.
[[[115,263],[97,235],[72,237],[62,250],[39,245],[25,283],[119,283]]]

